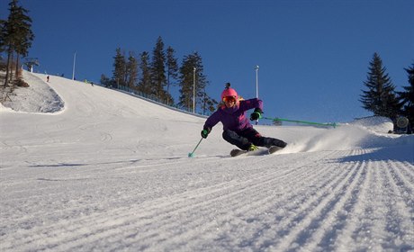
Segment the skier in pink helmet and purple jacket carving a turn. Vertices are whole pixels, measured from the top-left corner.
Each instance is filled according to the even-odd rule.
[[[252,124],[247,120],[245,112],[255,109],[250,115],[251,121],[256,121],[262,117],[263,102],[257,98],[249,100],[238,100],[238,93],[226,84],[226,88],[221,93],[222,103],[216,112],[205,121],[202,129],[202,138],[206,139],[212,127],[219,121],[223,124],[222,137],[230,144],[246,151],[257,150],[257,146],[276,149],[286,147],[287,143],[280,139],[266,138],[253,129]]]

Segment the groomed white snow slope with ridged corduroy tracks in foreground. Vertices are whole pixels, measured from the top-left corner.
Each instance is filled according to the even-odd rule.
[[[256,157],[217,125],[189,158],[205,119],[24,77],[0,107],[1,251],[414,249],[414,139],[387,121],[257,126],[289,145]]]

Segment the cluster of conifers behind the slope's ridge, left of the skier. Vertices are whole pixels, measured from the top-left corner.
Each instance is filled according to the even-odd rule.
[[[213,112],[218,103],[206,92],[210,84],[203,73],[202,57],[198,52],[185,55],[181,65],[175,57],[175,49],[165,49],[161,36],[152,52],[137,55],[121,48],[115,49],[112,76],[101,76],[101,84],[128,90],[151,97],[161,103],[174,105],[187,111],[202,114]],[[171,87],[179,86],[178,101],[171,94]],[[198,109],[197,109],[198,108]]]

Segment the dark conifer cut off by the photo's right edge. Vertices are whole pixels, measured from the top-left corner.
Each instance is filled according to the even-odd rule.
[[[410,129],[414,129],[414,63],[409,68],[404,68],[409,77],[409,85],[403,86],[404,92],[397,92],[401,100],[402,115],[406,116],[410,121]]]

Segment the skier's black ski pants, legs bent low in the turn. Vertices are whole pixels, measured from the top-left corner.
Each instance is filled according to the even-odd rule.
[[[251,144],[266,148],[270,148],[272,146],[284,148],[287,145],[287,143],[281,139],[262,137],[262,135],[260,135],[260,133],[253,128],[247,128],[237,132],[233,130],[224,130],[222,136],[223,139],[228,141],[230,144],[244,150],[247,150]]]

